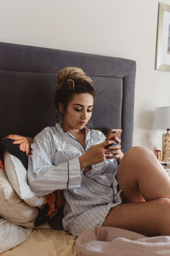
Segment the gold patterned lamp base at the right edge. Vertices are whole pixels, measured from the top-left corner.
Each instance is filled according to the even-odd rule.
[[[163,162],[170,162],[170,133],[162,134],[162,151],[161,160]]]

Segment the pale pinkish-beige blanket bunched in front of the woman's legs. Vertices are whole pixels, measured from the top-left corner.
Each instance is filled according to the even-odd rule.
[[[78,256],[169,256],[170,236],[147,237],[113,227],[96,227],[77,238]]]

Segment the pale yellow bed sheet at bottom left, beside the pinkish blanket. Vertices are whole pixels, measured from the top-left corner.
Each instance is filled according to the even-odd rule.
[[[26,241],[1,256],[77,256],[75,236],[63,230],[32,230]]]

